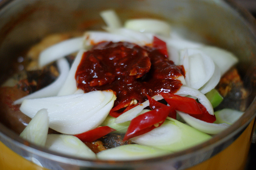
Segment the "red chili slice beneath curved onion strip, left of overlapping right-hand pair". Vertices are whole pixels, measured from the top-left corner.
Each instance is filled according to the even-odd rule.
[[[188,114],[202,114],[195,99],[174,95],[171,93],[161,93],[165,101],[177,111]]]

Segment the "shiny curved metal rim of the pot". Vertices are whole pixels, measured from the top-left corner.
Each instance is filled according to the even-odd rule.
[[[12,2],[13,0],[2,0],[0,1],[0,9],[7,5],[8,3]],[[251,30],[251,32],[254,34],[254,39],[256,43],[256,20],[253,18],[253,16],[245,10],[243,7],[239,6],[237,3],[235,3],[232,0],[224,0],[228,5],[230,5],[231,8],[237,10],[237,13],[241,14],[242,18],[245,19],[246,22],[248,22],[248,28]],[[199,144],[197,146],[194,146],[189,149],[185,149],[183,151],[179,151],[173,154],[169,154],[166,156],[159,156],[149,159],[142,159],[142,160],[94,160],[94,159],[81,159],[76,158],[72,156],[67,156],[64,154],[60,154],[57,152],[50,151],[48,149],[36,146],[34,144],[31,144],[22,138],[20,138],[15,132],[11,131],[10,129],[6,128],[2,123],[0,123],[0,141],[5,141],[4,144],[7,145],[10,149],[13,149],[14,147],[21,148],[25,151],[28,151],[34,155],[44,157],[46,159],[51,159],[52,161],[57,162],[65,162],[66,164],[72,164],[72,165],[78,165],[78,166],[95,166],[95,167],[104,167],[107,168],[107,166],[113,167],[113,166],[129,166],[129,164],[142,164],[142,163],[150,163],[150,162],[161,162],[165,160],[171,161],[177,161],[177,160],[183,160],[186,159],[185,157],[198,155],[200,153],[203,153],[205,151],[213,151],[216,147],[221,147],[222,149],[225,149],[229,144],[233,142],[230,141],[230,138],[234,138],[233,136],[236,136],[236,138],[243,132],[243,130],[248,126],[248,124],[254,119],[256,116],[256,98],[252,101],[250,106],[246,109],[245,114],[237,121],[235,122],[231,127],[224,130],[222,133],[215,135],[212,139]],[[221,143],[225,143],[221,146],[219,146]],[[22,152],[22,151],[20,151]],[[217,154],[218,152],[214,153]],[[210,156],[213,156],[214,154],[210,154]],[[208,159],[207,157],[204,159]],[[99,164],[100,163],[100,164]]]

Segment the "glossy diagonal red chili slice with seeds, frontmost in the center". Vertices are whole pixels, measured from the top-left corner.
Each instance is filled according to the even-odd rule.
[[[131,123],[125,133],[123,141],[142,135],[159,127],[164,123],[166,117],[173,111],[172,106],[161,107],[144,114],[138,115],[131,120]]]

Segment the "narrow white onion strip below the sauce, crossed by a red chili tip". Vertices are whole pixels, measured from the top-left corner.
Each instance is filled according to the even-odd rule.
[[[163,99],[162,96],[156,95],[152,97],[156,101]],[[149,101],[146,100],[143,103],[139,104],[136,107],[133,107],[132,109],[124,112],[120,116],[117,117],[115,120],[115,123],[123,123],[129,120],[132,120],[134,117],[136,117],[145,107],[149,106]]]

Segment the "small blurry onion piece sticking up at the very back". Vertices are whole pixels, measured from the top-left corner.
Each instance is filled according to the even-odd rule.
[[[122,23],[120,19],[118,18],[117,14],[113,10],[106,10],[100,12],[100,16],[104,20],[104,22],[107,24],[110,28],[119,28],[122,27]]]

